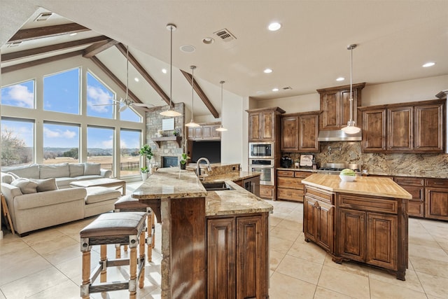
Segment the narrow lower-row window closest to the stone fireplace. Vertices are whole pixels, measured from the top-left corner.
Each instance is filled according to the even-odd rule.
[[[140,173],[141,131],[120,130],[120,177]]]

